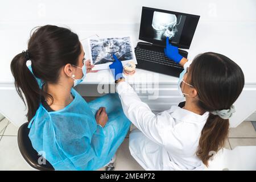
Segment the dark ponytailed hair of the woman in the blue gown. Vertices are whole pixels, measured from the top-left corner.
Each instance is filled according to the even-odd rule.
[[[41,97],[50,96],[39,88],[35,77],[46,84],[57,83],[60,69],[68,63],[77,65],[80,53],[81,44],[75,33],[67,28],[47,25],[37,28],[31,35],[27,52],[19,53],[14,57],[11,61],[11,73],[20,98],[25,105],[27,102],[28,121],[38,110]],[[31,60],[34,75],[27,67],[28,59]]]

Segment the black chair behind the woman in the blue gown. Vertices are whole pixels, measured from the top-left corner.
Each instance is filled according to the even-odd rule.
[[[44,159],[46,164],[38,163],[38,159],[41,158],[39,159],[41,161],[43,156],[39,155],[38,152],[36,152],[36,150],[32,147],[31,140],[28,137],[30,129],[28,129],[27,126],[28,123],[26,122],[20,126],[18,130],[18,146],[20,153],[31,167],[40,171],[53,171],[54,168],[46,159]]]

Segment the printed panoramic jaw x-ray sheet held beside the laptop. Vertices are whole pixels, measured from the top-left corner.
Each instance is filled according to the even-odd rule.
[[[121,61],[132,60],[130,38],[106,38],[90,40],[93,64],[113,62],[113,54]]]

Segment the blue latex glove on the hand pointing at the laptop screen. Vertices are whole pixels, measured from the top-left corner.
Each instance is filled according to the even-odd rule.
[[[183,58],[183,56],[179,54],[178,48],[169,44],[168,37],[166,38],[166,48],[164,48],[164,53],[169,59],[173,60],[177,64],[179,64],[180,60]]]

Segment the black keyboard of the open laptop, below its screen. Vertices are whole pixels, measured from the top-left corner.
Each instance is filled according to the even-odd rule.
[[[148,49],[135,48],[136,59],[143,61],[150,61],[153,63],[168,65],[170,67],[183,68],[181,65],[176,64],[174,61],[168,59],[163,52],[152,51]]]

